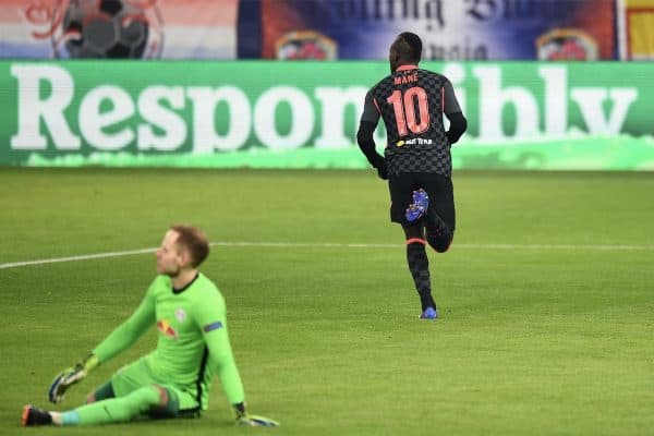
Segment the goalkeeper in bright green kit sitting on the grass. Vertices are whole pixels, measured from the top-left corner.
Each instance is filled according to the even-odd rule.
[[[208,253],[208,240],[198,229],[172,226],[157,250],[159,275],[136,311],[88,358],[59,374],[48,397],[53,403],[61,402],[71,386],[128,349],[152,326],[158,330],[155,350],[118,371],[88,396],[85,405],[53,412],[28,404],[23,409],[22,424],[92,425],[143,415],[199,416],[207,409],[210,380],[216,374],[237,424],[278,425],[245,409],[243,384],[229,342],[225,299],[197,270]]]

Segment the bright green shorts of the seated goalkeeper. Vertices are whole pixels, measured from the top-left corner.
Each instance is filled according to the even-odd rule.
[[[199,416],[199,404],[195,396],[157,379],[147,365],[145,358],[123,366],[111,377],[111,387],[116,397],[124,397],[136,389],[153,385],[166,389],[168,404],[150,411],[149,415],[154,417]]]

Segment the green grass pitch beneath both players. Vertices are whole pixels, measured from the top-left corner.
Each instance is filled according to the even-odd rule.
[[[429,254],[437,322],[417,318],[368,171],[4,168],[0,186],[0,435],[654,434],[653,173],[457,173],[455,244]],[[203,269],[250,409],[282,426],[234,427],[216,383],[201,420],[20,428],[155,269],[152,253],[10,264],[155,247],[172,222],[215,242]]]

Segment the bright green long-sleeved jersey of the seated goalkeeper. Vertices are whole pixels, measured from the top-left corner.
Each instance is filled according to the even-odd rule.
[[[130,347],[149,327],[158,330],[157,348],[145,356],[155,378],[192,392],[206,410],[213,374],[217,374],[231,404],[244,401],[227,329],[222,294],[202,272],[182,290],[158,276],[136,311],[93,353],[100,363]]]

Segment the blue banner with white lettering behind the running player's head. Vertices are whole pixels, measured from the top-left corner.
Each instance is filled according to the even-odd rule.
[[[261,4],[266,59],[386,59],[389,44],[407,29],[423,37],[423,59],[432,60],[617,56],[614,0],[249,2]]]

